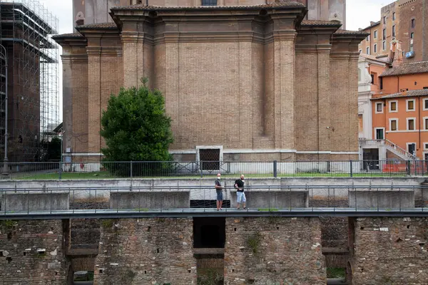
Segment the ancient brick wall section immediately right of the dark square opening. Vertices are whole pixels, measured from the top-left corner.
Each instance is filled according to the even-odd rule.
[[[226,218],[225,284],[326,284],[318,218]]]

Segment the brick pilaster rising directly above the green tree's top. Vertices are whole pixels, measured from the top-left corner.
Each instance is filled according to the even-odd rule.
[[[122,31],[123,84],[125,88],[138,86],[138,32]],[[143,52],[140,51],[140,52]],[[143,56],[143,55],[140,55]]]

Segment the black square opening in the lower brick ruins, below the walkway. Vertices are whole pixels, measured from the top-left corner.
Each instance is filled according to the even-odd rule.
[[[225,247],[225,217],[193,218],[194,248]]]

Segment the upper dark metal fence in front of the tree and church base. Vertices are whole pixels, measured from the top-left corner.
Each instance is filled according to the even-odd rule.
[[[210,177],[218,172],[248,177],[424,176],[428,173],[428,160],[20,162],[9,163],[3,177],[16,180]]]

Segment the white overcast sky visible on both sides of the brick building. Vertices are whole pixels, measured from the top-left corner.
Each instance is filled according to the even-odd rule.
[[[39,2],[58,17],[58,33],[73,32],[72,0],[39,0]],[[370,21],[379,21],[382,6],[392,2],[394,0],[347,0],[347,30],[365,28],[370,26]],[[60,83],[60,121],[62,121],[62,66],[60,67]]]

